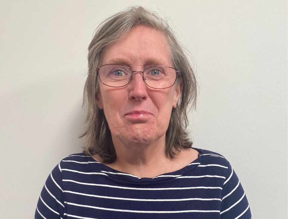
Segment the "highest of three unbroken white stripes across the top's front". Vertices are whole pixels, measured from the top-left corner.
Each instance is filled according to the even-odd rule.
[[[77,182],[70,179],[63,179],[63,181],[66,182],[74,182],[77,184],[83,184],[83,185],[90,185],[90,186],[103,186],[103,187],[111,187],[111,188],[118,188],[118,189],[130,189],[130,190],[185,190],[185,189],[221,189],[221,187],[205,187],[205,186],[198,186],[198,187],[176,187],[176,188],[135,188],[135,187],[122,187],[122,186],[111,186],[111,185],[105,185],[105,184],[95,184],[95,183],[83,183],[83,182]]]

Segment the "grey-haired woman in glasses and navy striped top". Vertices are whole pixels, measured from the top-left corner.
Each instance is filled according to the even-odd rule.
[[[251,218],[221,155],[192,148],[192,68],[169,26],[132,7],[98,27],[89,46],[87,144],[64,158],[35,218]]]

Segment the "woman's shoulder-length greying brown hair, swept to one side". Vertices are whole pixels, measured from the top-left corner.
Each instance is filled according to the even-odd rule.
[[[186,55],[187,50],[178,42],[168,22],[157,13],[141,6],[129,7],[101,22],[88,47],[88,76],[83,93],[83,106],[87,109],[87,129],[80,138],[86,136],[85,155],[98,154],[106,163],[115,161],[116,153],[104,111],[98,108],[95,100],[99,90],[96,68],[101,64],[106,46],[116,43],[132,27],[139,24],[163,32],[168,42],[173,68],[180,71],[182,77],[182,80],[180,78],[176,81],[182,81],[183,89],[177,107],[172,109],[166,131],[166,156],[175,158],[182,148],[192,147],[193,144],[186,131],[187,112],[196,107],[197,85],[195,73]]]

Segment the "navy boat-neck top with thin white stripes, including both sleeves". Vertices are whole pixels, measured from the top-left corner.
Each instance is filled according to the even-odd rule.
[[[67,156],[48,176],[35,219],[251,219],[230,163],[194,149],[199,155],[192,163],[154,178],[119,172],[83,153]]]

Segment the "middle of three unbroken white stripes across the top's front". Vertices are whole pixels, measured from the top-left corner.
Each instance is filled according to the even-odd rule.
[[[127,201],[192,201],[192,200],[220,201],[220,198],[140,199],[140,198],[120,198],[120,197],[111,197],[111,196],[102,196],[102,195],[91,195],[91,194],[73,192],[73,191],[67,191],[67,190],[64,190],[64,192],[77,194],[77,195],[96,197],[96,198],[108,198],[108,199],[127,200]]]

